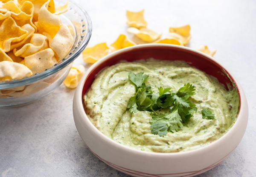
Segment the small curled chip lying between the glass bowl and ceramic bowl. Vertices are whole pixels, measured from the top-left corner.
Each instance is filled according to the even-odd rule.
[[[63,84],[68,88],[76,88],[84,72],[85,68],[83,65],[79,65],[78,67],[72,66]]]

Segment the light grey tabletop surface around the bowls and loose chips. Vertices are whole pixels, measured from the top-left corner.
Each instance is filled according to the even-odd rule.
[[[76,0],[90,14],[89,45],[113,42],[125,33],[125,10],[145,9],[148,26],[166,36],[170,26],[190,24],[191,48],[217,49],[215,59],[240,81],[249,122],[237,149],[198,177],[256,176],[256,1],[255,0]],[[83,63],[78,58],[76,63]],[[74,90],[63,85],[33,104],[0,109],[2,177],[128,177],[86,148],[73,121]],[[220,147],[221,148],[221,147]],[[157,168],[157,166],[156,166]]]

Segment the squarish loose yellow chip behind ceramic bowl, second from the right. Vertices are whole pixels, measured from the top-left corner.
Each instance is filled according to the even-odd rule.
[[[191,38],[190,25],[185,25],[177,28],[169,28],[169,39],[177,39],[183,45],[189,43]]]

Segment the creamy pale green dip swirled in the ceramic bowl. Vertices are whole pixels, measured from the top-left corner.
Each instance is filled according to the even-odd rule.
[[[186,124],[176,126],[176,131],[152,133],[152,114],[167,114],[175,106],[154,112],[129,110],[128,102],[138,90],[129,79],[131,73],[148,76],[145,84],[157,94],[159,87],[163,87],[178,95],[177,90],[190,83],[195,91],[186,102],[197,109]],[[93,125],[120,144],[148,152],[180,152],[207,146],[224,135],[236,121],[239,95],[236,89],[227,91],[215,77],[186,62],[147,59],[103,69],[84,95],[84,107]]]

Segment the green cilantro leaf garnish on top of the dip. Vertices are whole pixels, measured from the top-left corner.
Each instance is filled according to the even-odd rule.
[[[195,86],[192,84],[184,84],[177,91],[159,87],[158,93],[154,93],[151,86],[145,83],[148,75],[142,72],[130,73],[128,78],[135,85],[136,93],[129,99],[127,108],[131,113],[151,112],[150,128],[154,135],[163,137],[167,132],[177,132],[180,127],[187,126],[192,113],[197,111],[196,105],[189,101],[195,95]],[[169,113],[158,113],[160,109],[167,109]],[[202,110],[202,115],[206,119],[214,118],[214,114],[207,109]]]

